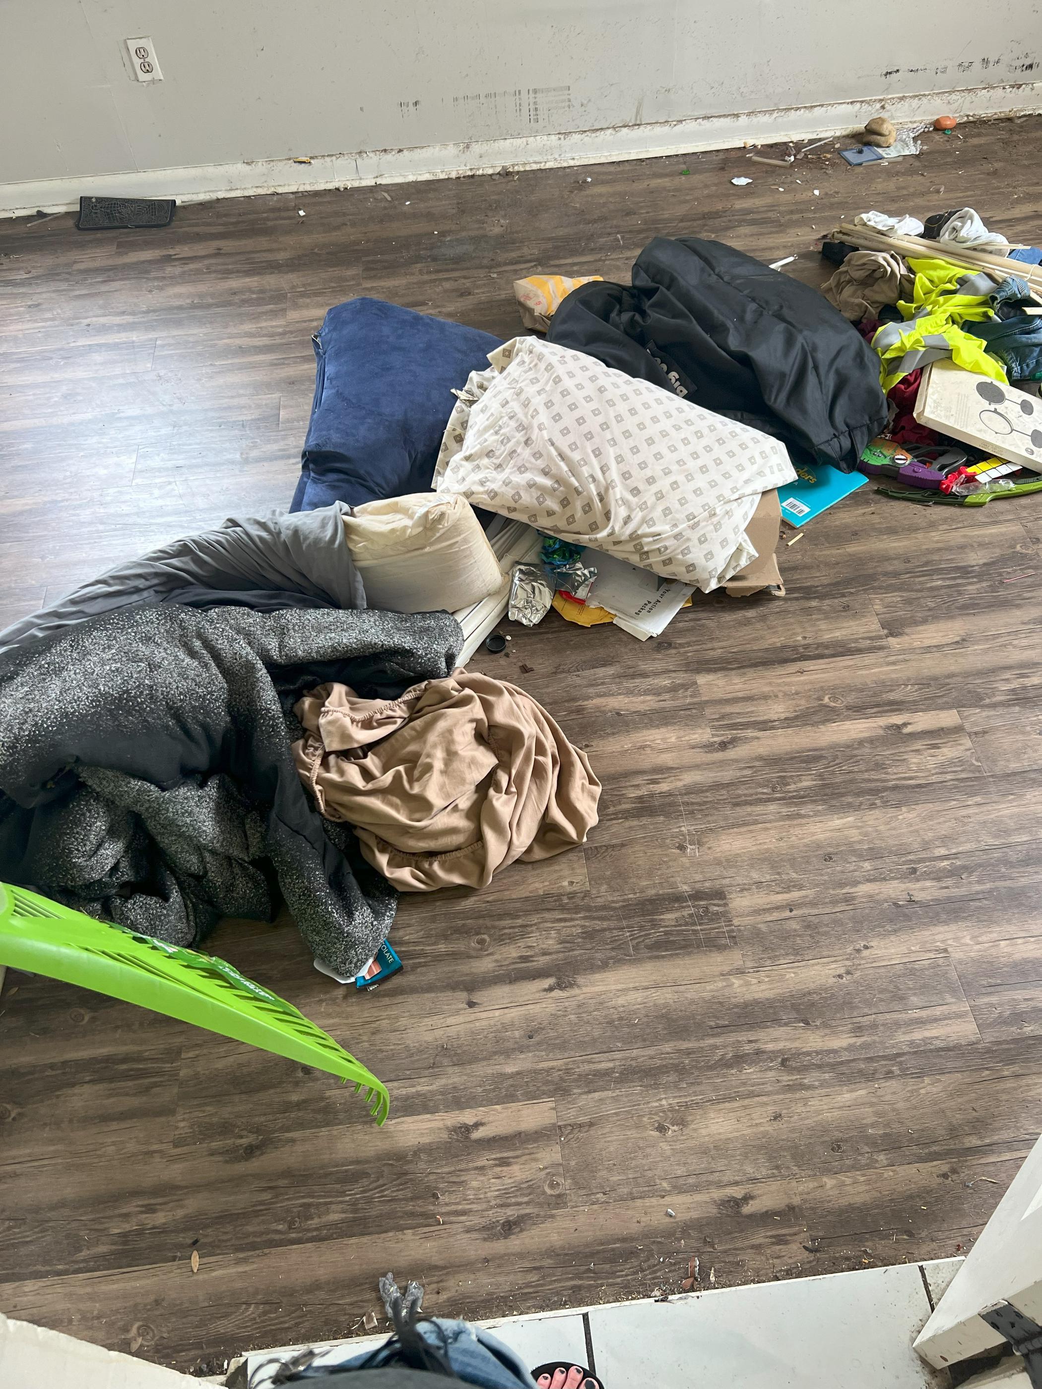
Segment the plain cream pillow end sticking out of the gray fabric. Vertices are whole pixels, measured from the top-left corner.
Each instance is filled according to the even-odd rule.
[[[497,593],[499,560],[463,497],[417,492],[343,517],[365,600],[383,613],[456,613]]]

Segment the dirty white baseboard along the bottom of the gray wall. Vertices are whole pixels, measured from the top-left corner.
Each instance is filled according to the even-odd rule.
[[[175,197],[179,203],[204,203],[215,197],[246,197],[256,193],[303,193],[308,189],[410,183],[418,179],[496,174],[503,168],[613,164],[618,160],[735,149],[745,143],[825,139],[860,131],[870,117],[881,113],[895,122],[909,124],[932,121],[936,115],[957,115],[967,121],[1035,111],[1042,111],[1042,82],[967,88],[956,92],[921,92],[827,106],[793,106],[775,111],[699,115],[684,121],[615,125],[600,131],[568,131],[561,135],[424,144],[356,154],[320,154],[313,156],[310,164],[281,158],[132,169],[121,174],[92,174],[85,178],[0,183],[0,217],[28,217],[38,210],[64,213],[78,207],[79,199],[90,194]]]

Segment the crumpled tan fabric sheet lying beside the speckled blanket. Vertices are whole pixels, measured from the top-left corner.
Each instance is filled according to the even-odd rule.
[[[581,845],[600,782],[540,706],[514,685],[456,671],[397,700],[320,685],[296,706],[301,781],[326,820],[354,828],[402,892],[483,888],[521,858]]]

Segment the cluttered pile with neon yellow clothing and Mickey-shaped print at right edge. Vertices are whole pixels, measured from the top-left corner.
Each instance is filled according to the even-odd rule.
[[[873,249],[856,249],[859,239]],[[964,207],[925,224],[863,213],[822,254],[838,264],[824,294],[871,343],[886,392],[885,428],[859,467],[939,493],[904,500],[981,504],[1035,490],[1042,296],[1028,267],[1042,250],[1011,246]]]

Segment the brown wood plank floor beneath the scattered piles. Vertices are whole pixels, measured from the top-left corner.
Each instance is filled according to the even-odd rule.
[[[1039,132],[0,224],[0,622],[288,504],[329,304],[510,336],[515,276],[625,275],[656,233],[817,282],[867,207],[1034,242]],[[389,1082],[383,1131],[331,1078],[8,971],[0,1310],[193,1367],[350,1332],[388,1268],[478,1317],[675,1289],[693,1254],[724,1285],[966,1249],[1042,1113],[1041,549],[1042,499],[864,488],[781,551],[784,601],[482,654],[593,758],[589,847],[406,900],[407,970],[363,997],[289,922],[214,940]]]

